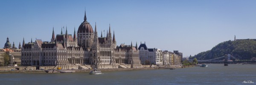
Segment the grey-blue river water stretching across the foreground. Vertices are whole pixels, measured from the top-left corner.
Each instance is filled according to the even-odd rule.
[[[256,65],[208,64],[175,70],[105,71],[103,74],[0,74],[0,85],[241,85],[256,84]]]

